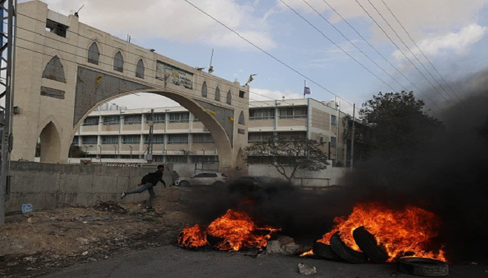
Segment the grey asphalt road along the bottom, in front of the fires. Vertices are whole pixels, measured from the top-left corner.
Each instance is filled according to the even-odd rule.
[[[395,270],[394,264],[351,265],[334,261],[304,259],[296,256],[183,250],[167,245],[82,265],[47,275],[45,278],[77,277],[302,277],[298,263],[317,267],[314,277],[414,278]],[[488,277],[485,265],[451,265],[449,277]]]

